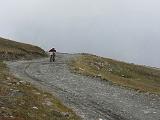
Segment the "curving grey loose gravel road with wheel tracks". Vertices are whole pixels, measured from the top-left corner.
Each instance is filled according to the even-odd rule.
[[[8,62],[11,72],[73,108],[84,120],[160,120],[160,96],[139,93],[99,78],[71,73],[67,62],[77,55]]]

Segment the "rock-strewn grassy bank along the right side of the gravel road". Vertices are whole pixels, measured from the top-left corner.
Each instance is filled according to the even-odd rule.
[[[81,54],[72,60],[74,72],[100,77],[140,91],[160,93],[160,70],[113,59]]]

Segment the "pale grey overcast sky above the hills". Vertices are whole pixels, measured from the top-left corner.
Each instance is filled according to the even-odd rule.
[[[0,36],[160,67],[160,0],[0,0]]]

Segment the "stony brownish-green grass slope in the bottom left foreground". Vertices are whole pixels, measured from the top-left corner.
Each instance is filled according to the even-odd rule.
[[[57,98],[10,75],[0,62],[0,120],[79,120]]]

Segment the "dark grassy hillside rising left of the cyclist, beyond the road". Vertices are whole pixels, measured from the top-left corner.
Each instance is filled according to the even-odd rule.
[[[32,59],[44,56],[46,56],[45,51],[37,46],[0,38],[0,60]]]

